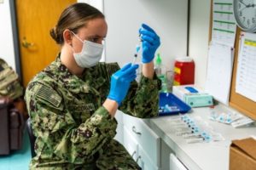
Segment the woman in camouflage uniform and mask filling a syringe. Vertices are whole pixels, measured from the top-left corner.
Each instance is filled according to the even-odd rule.
[[[113,139],[114,115],[119,108],[131,116],[157,116],[160,82],[153,59],[160,37],[149,26],[140,28],[143,76],[137,83],[138,65],[99,63],[107,27],[99,10],[74,3],[50,31],[61,52],[26,88],[36,136],[31,169],[140,169]]]

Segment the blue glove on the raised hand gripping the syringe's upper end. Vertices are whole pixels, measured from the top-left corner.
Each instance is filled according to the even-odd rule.
[[[154,53],[160,46],[160,37],[145,24],[139,29],[139,34],[143,41],[143,63],[149,63],[154,59]]]

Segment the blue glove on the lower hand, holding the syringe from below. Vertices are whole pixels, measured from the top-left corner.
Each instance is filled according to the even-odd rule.
[[[130,87],[130,83],[136,78],[138,65],[125,65],[119,71],[113,73],[111,77],[110,91],[108,99],[115,100],[119,105],[125,99]]]

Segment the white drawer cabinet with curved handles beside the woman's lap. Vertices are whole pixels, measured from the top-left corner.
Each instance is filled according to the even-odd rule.
[[[133,159],[145,170],[160,167],[160,137],[143,119],[123,115],[124,145]]]

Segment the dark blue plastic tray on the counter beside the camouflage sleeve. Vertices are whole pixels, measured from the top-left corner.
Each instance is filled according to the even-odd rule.
[[[159,116],[187,113],[191,107],[172,93],[160,93]]]

